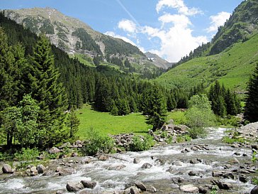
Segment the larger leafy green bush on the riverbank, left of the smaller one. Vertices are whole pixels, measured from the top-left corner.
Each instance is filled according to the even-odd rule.
[[[82,154],[94,156],[98,153],[110,153],[114,146],[114,140],[109,136],[101,136],[99,131],[93,128],[88,130],[88,138],[82,147]]]

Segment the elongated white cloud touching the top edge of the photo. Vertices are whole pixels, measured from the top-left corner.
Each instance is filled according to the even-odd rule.
[[[196,14],[202,14],[203,12],[198,8],[188,8],[183,0],[159,0],[156,5],[156,11],[159,13],[160,10],[165,7],[177,9],[179,14],[184,14],[186,16],[194,16]]]

